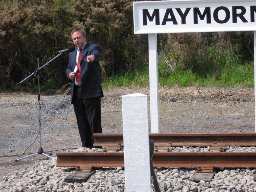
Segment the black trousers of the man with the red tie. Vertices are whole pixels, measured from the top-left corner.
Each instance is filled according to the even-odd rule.
[[[93,146],[93,133],[101,130],[101,98],[83,98],[81,88],[74,87],[74,111],[82,147]]]

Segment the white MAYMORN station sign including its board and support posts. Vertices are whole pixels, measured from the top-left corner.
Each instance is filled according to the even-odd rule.
[[[156,34],[254,31],[254,95],[256,95],[255,19],[256,0],[171,0],[133,2],[134,34],[149,35],[151,133],[159,133]],[[254,97],[254,101],[256,111],[256,97]]]

